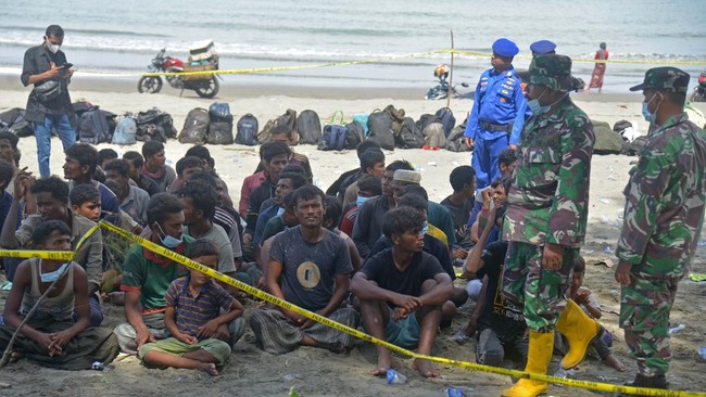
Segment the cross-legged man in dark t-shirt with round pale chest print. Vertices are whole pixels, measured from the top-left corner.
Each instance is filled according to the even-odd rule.
[[[323,227],[324,192],[313,185],[294,191],[299,226],[277,234],[269,251],[266,286],[270,294],[344,325],[356,328],[360,318],[340,308],[353,270],[343,239]],[[299,345],[344,353],[352,337],[293,311],[261,309],[250,318],[257,344],[270,354]]]

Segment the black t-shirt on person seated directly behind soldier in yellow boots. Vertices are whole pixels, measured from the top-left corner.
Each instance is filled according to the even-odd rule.
[[[503,267],[505,254],[507,254],[506,241],[496,241],[489,244],[481,255],[484,262],[479,277],[488,276],[488,289],[486,290],[486,305],[478,319],[479,329],[490,328],[499,335],[521,336],[525,333],[526,323],[521,311],[508,307],[502,293]]]

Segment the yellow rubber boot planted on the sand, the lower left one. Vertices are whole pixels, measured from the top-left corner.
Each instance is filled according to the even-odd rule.
[[[525,372],[545,374],[552,361],[554,332],[539,333],[530,330],[527,366]],[[546,383],[521,379],[510,388],[503,390],[503,397],[537,397],[546,393]]]

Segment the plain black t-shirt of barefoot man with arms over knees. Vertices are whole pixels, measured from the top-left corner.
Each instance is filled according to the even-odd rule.
[[[421,284],[439,273],[445,273],[433,256],[420,252],[414,254],[412,262],[401,272],[392,259],[392,248],[387,248],[370,257],[361,271],[379,287],[398,294],[419,296]],[[388,303],[390,307],[394,307]]]

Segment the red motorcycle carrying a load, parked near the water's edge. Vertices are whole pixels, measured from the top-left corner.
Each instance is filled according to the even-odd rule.
[[[157,52],[156,56],[152,59],[152,63],[148,66],[151,73],[184,73],[184,72],[196,72],[199,71],[212,71],[218,68],[217,55],[214,55],[215,60],[209,60],[207,63],[199,64],[198,67],[189,67],[190,65],[185,65],[184,62],[177,57],[172,57],[166,55],[166,48],[163,48]],[[191,61],[190,61],[191,62]],[[196,61],[194,61],[196,62]],[[209,63],[213,63],[210,65]],[[179,75],[168,75],[164,76],[169,86],[184,90],[193,90],[201,98],[213,98],[218,93],[218,80],[216,75],[205,75],[205,76],[179,76]],[[162,89],[163,80],[162,76],[142,76],[137,82],[137,90],[140,93],[157,93]]]

